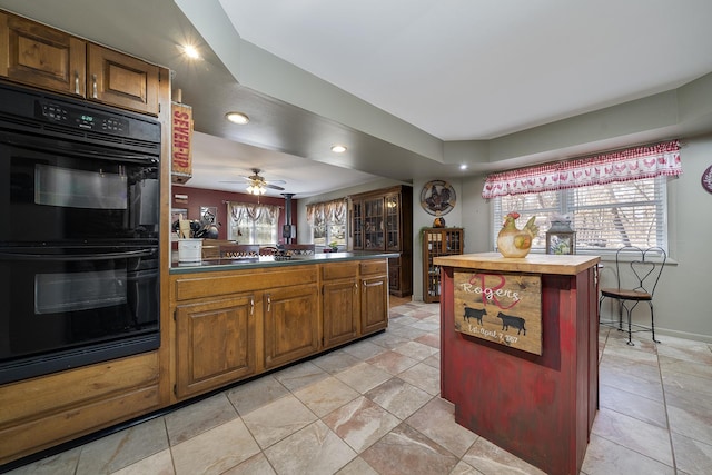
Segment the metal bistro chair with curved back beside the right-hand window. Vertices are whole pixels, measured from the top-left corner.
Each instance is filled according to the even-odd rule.
[[[601,306],[605,298],[617,300],[619,320],[601,320],[605,326],[612,326],[624,331],[623,329],[623,310],[627,318],[627,344],[633,346],[633,331],[652,331],[653,342],[655,339],[655,316],[653,311],[653,295],[655,287],[660,280],[660,276],[665,267],[668,255],[661,247],[650,247],[642,249],[635,246],[625,246],[615,253],[615,274],[617,278],[617,287],[602,288],[601,298],[599,299],[599,315],[601,315]],[[650,306],[650,327],[633,324],[631,315],[633,309],[641,301],[647,303]],[[639,329],[633,330],[636,327]]]

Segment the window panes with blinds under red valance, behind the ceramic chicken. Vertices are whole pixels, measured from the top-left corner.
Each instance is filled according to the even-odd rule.
[[[507,195],[494,201],[494,236],[504,216],[520,212],[518,226],[536,216],[540,236],[532,249],[545,250],[545,231],[553,215],[568,215],[576,231],[576,250],[605,253],[624,245],[661,246],[668,250],[664,176],[593,185],[557,191]]]

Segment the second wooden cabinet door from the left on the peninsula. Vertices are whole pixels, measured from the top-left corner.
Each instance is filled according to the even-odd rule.
[[[265,367],[274,368],[319,349],[319,311],[314,285],[270,289],[264,296]]]

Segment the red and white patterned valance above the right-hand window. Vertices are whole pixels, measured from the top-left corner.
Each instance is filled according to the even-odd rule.
[[[485,199],[682,174],[678,140],[487,176]]]

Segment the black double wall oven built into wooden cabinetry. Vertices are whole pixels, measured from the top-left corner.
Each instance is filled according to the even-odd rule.
[[[0,83],[0,384],[158,348],[160,141]]]

